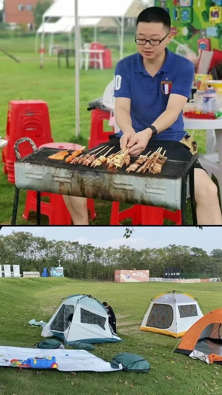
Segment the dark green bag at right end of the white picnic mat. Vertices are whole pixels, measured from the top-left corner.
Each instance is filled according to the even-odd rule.
[[[113,368],[123,368],[127,372],[148,372],[151,367],[143,357],[129,352],[116,355],[111,362]]]

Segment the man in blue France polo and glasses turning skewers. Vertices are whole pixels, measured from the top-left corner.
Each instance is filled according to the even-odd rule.
[[[190,97],[194,65],[175,55],[170,42],[170,15],[159,7],[144,9],[136,21],[138,53],[120,60],[115,71],[115,117],[120,132],[106,145],[130,147],[139,155],[164,147],[168,159],[189,161],[183,107]],[[199,225],[222,225],[216,185],[199,162],[194,170]],[[86,199],[66,196],[75,225],[88,224]]]

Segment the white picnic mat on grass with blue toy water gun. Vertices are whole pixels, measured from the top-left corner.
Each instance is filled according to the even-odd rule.
[[[38,349],[0,346],[0,366],[58,369],[64,372],[112,372],[109,362],[85,350]]]

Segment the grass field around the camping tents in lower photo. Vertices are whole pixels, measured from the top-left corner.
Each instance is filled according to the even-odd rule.
[[[149,300],[175,288],[160,283],[92,283],[70,279],[0,279],[0,345],[32,347],[40,341],[41,329],[28,321],[47,320],[60,300],[71,294],[87,293],[108,300],[117,315],[119,344],[96,345],[95,355],[111,361],[119,352],[142,355],[151,364],[146,374],[71,373],[58,371],[16,371],[0,368],[0,394],[39,395],[194,395],[222,393],[222,367],[207,365],[185,355],[172,354],[177,340],[138,331]],[[221,307],[222,284],[177,284],[176,290],[198,298],[204,312]]]

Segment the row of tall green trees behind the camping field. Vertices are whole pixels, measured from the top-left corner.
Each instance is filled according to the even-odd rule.
[[[69,278],[114,281],[115,269],[148,269],[151,277],[162,277],[164,267],[179,266],[182,278],[222,277],[222,250],[207,254],[202,248],[168,245],[163,248],[129,246],[101,248],[78,241],[47,240],[30,232],[0,235],[0,265],[20,265],[20,271],[57,267],[58,260]]]

